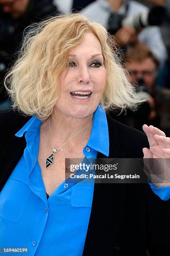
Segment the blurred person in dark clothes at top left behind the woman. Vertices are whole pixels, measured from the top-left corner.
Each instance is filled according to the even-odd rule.
[[[0,0],[0,102],[7,97],[3,79],[15,60],[24,29],[56,12],[52,0]]]

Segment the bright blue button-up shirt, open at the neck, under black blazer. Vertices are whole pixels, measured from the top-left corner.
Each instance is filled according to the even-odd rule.
[[[94,183],[67,183],[66,180],[47,200],[37,161],[41,123],[32,117],[15,134],[18,137],[25,134],[27,146],[0,193],[0,247],[28,248],[31,256],[80,256],[89,224]],[[91,136],[83,152],[87,159],[95,159],[98,151],[109,156],[107,118],[101,105],[94,113]],[[168,189],[154,192],[167,200],[170,198]]]

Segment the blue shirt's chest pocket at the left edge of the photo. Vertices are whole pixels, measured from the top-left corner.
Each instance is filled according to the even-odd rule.
[[[30,192],[28,185],[9,178],[0,193],[0,217],[18,223],[28,202]]]

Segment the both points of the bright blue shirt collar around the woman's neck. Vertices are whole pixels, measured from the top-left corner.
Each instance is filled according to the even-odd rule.
[[[36,136],[36,133],[40,131],[40,125],[42,121],[35,116],[18,131],[15,136],[22,137],[26,132],[26,139],[32,135]],[[107,125],[107,117],[104,108],[99,105],[93,115],[93,125],[91,129],[91,136],[87,145],[96,151],[101,152],[105,156],[109,156],[109,132]]]

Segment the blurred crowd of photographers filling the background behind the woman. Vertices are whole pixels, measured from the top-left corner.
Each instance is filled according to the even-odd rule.
[[[170,136],[170,0],[0,0],[0,112],[11,109],[4,77],[30,24],[57,13],[81,12],[114,35],[122,66],[146,102],[137,111],[110,111],[142,131],[155,125]]]

